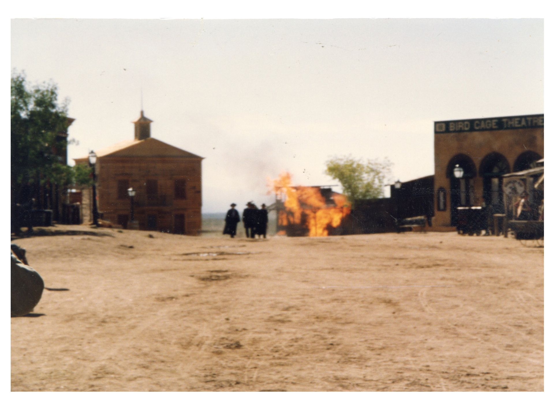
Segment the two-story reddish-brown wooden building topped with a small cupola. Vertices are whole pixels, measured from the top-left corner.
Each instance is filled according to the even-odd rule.
[[[196,235],[201,229],[202,157],[150,136],[152,120],[134,122],[135,138],[96,151],[96,199],[102,220],[127,228],[136,190],[139,229]],[[75,159],[88,164],[88,157]],[[83,218],[91,221],[91,192],[83,193]]]

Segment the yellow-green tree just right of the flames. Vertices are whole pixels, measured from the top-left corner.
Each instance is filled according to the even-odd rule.
[[[348,200],[355,203],[356,200],[383,196],[383,187],[391,176],[392,164],[387,159],[364,161],[348,155],[332,157],[326,166],[325,174],[339,181]]]

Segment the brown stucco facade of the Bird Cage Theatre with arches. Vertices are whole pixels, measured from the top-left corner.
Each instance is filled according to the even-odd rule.
[[[502,175],[544,156],[544,115],[435,122],[434,154],[433,226],[454,226],[458,206],[484,202],[502,212]]]

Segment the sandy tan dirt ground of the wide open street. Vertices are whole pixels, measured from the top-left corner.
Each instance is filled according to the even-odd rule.
[[[543,248],[57,229],[16,241],[69,290],[11,319],[13,391],[543,390]]]

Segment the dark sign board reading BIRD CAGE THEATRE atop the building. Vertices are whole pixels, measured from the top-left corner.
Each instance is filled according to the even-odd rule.
[[[435,134],[545,127],[545,115],[506,116],[435,122]]]

